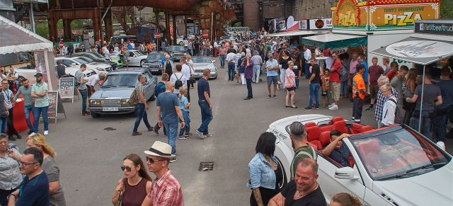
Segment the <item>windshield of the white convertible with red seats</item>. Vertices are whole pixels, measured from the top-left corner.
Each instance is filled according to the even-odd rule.
[[[451,158],[410,128],[395,126],[389,132],[350,138],[362,162],[376,181],[406,178],[434,171]]]

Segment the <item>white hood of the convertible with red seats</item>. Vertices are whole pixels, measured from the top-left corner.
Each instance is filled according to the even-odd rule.
[[[398,205],[452,205],[453,163],[420,176],[373,184],[374,193]]]

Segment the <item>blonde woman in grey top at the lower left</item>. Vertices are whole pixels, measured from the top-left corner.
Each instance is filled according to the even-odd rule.
[[[59,168],[55,162],[55,151],[47,144],[44,136],[39,133],[27,137],[27,149],[35,147],[42,151],[42,171],[49,179],[50,205],[66,205],[63,188],[59,185]]]

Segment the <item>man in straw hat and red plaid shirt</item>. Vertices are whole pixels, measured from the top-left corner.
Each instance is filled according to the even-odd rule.
[[[174,157],[171,154],[171,146],[156,141],[144,154],[147,154],[148,170],[154,173],[156,178],[142,205],[184,205],[183,189],[168,168],[170,159]]]

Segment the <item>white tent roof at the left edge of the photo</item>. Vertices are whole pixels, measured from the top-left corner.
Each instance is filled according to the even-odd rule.
[[[0,16],[0,55],[52,50],[52,42]]]

